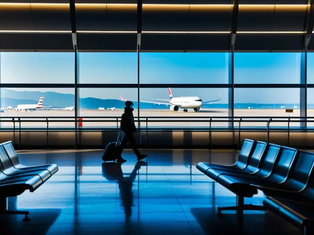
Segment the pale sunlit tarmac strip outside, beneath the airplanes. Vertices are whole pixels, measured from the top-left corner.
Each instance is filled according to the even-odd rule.
[[[83,127],[116,127],[117,120],[120,119],[123,109],[116,110],[97,110],[83,109],[79,110],[79,116],[83,118]],[[138,124],[138,110],[133,112],[135,124]],[[21,127],[47,127],[47,118],[49,127],[74,127],[74,110],[36,110],[36,111],[5,111],[0,113],[1,127],[19,127],[18,118],[21,120]],[[227,109],[201,109],[199,112],[189,110],[188,112],[170,110],[148,110],[143,109],[139,112],[141,127],[218,127],[228,126],[228,110]],[[270,126],[287,127],[288,122],[275,122],[276,120],[291,120],[293,117],[300,116],[300,110],[293,110],[293,113],[286,113],[285,109],[235,109],[234,116],[236,120],[241,121],[241,127],[245,126],[267,126],[267,120],[271,117],[282,117],[286,119],[273,118]],[[308,117],[312,117],[314,121],[314,110],[308,110]],[[251,117],[251,118],[245,118]],[[252,118],[253,117],[253,118]],[[256,117],[256,118],[254,118]],[[260,118],[257,118],[260,117]],[[210,118],[212,122],[210,123]],[[66,122],[66,120],[68,122]],[[254,120],[257,122],[245,122],[246,120]],[[27,122],[25,122],[27,121]],[[41,121],[41,122],[36,122]],[[53,122],[55,121],[55,122]],[[94,122],[93,122],[94,121]],[[147,123],[146,123],[147,121]],[[219,122],[217,122],[219,121]],[[239,126],[239,122],[235,122],[235,126]],[[290,122],[290,127],[300,126],[299,122]],[[314,126],[308,123],[308,126]]]

